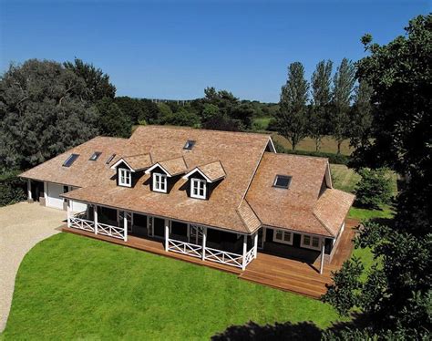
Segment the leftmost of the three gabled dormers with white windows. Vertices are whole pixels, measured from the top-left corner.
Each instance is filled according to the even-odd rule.
[[[116,170],[118,186],[134,187],[151,163],[150,154],[132,155],[121,157],[111,166],[111,169]]]

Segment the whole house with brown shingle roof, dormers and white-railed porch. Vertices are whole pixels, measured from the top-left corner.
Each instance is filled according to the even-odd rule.
[[[28,199],[67,227],[160,240],[167,253],[244,270],[260,252],[331,261],[354,196],[328,160],[276,153],[269,135],[142,126],[25,171]]]

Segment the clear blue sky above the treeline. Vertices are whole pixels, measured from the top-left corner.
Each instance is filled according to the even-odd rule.
[[[364,57],[428,1],[0,0],[0,71],[27,58],[79,57],[101,67],[117,95],[199,98],[203,88],[278,101],[286,67]]]

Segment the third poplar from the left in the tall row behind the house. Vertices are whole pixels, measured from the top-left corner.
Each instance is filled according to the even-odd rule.
[[[341,144],[349,137],[349,126],[352,124],[349,117],[353,89],[355,86],[355,67],[351,60],[342,59],[334,74],[333,114],[330,117],[330,129],[337,141],[337,153],[341,153]]]

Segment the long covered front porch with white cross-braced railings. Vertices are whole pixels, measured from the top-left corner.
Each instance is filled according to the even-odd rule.
[[[106,236],[127,244],[149,240],[166,253],[180,253],[201,262],[220,263],[244,270],[257,256],[258,233],[246,235],[180,222],[140,212],[88,204],[85,212],[67,210],[67,227]]]

